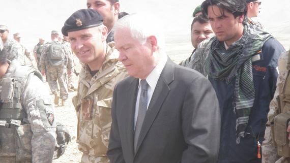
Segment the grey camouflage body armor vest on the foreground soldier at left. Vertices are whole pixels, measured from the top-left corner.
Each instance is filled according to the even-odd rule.
[[[31,125],[20,103],[22,87],[29,74],[41,74],[33,68],[10,63],[8,73],[1,82],[0,108],[0,160],[31,161]]]

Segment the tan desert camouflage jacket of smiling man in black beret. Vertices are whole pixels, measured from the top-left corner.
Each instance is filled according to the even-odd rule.
[[[101,69],[92,76],[87,64],[79,75],[77,95],[73,104],[78,117],[77,143],[83,152],[82,163],[107,163],[106,152],[111,126],[111,103],[114,86],[127,76],[118,61],[114,43],[107,44],[107,54]]]

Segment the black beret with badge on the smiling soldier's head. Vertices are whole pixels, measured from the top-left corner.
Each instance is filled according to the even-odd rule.
[[[92,28],[103,24],[103,17],[93,9],[81,9],[73,13],[62,28],[64,36],[68,32],[86,28]]]

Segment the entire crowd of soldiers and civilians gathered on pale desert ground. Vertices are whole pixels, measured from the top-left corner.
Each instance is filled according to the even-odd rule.
[[[64,22],[63,41],[52,30],[34,56],[0,25],[0,162],[64,154],[70,138],[54,107],[71,103],[69,90],[77,90],[78,162],[290,162],[290,53],[252,19],[261,5],[202,2],[192,14],[194,50],[179,65],[156,16],[119,13],[118,0],[87,0]]]

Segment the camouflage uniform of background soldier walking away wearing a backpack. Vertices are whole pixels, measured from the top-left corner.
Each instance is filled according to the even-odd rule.
[[[52,92],[57,92],[58,91],[58,86],[57,86],[57,81],[59,82],[60,85],[60,96],[61,99],[67,99],[68,97],[68,88],[67,88],[67,68],[69,71],[71,71],[72,68],[72,60],[70,58],[70,49],[68,49],[66,46],[64,47],[65,50],[65,58],[62,64],[59,66],[51,66],[49,63],[49,48],[51,44],[55,42],[49,42],[45,44],[45,48],[40,56],[40,69],[41,71],[44,71],[46,69],[46,76],[48,83],[50,85],[50,89]]]

